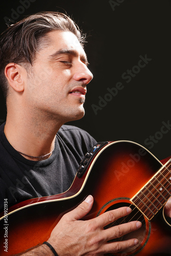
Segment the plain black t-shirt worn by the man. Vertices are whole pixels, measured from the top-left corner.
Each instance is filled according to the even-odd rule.
[[[81,159],[96,144],[86,131],[62,125],[56,134],[52,155],[46,160],[31,161],[11,146],[4,134],[4,125],[0,126],[0,212],[4,199],[12,206],[27,199],[66,191]]]

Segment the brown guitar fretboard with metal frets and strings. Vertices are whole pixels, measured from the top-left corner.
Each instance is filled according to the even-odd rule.
[[[131,199],[148,220],[157,214],[171,196],[170,160]]]

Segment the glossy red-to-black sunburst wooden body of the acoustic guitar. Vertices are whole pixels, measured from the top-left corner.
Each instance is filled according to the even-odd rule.
[[[145,148],[129,141],[110,142],[92,159],[87,172],[75,180],[65,193],[27,200],[9,209],[8,252],[4,252],[4,218],[0,221],[0,255],[12,255],[48,240],[54,226],[63,214],[76,207],[83,199],[92,195],[94,205],[86,217],[95,218],[106,210],[123,205],[133,207],[134,218],[141,218],[143,228],[130,234],[140,239],[140,244],[131,251],[109,255],[157,256],[169,255],[171,229],[163,219],[161,208],[152,221],[147,220],[133,198],[154,176],[162,164]],[[169,188],[169,193],[170,193]],[[130,218],[132,219],[132,217]],[[129,220],[118,220],[113,225]],[[169,220],[167,220],[169,221]],[[108,227],[105,227],[108,228]],[[122,239],[127,239],[123,237]]]

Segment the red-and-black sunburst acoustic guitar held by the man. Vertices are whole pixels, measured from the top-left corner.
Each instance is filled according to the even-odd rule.
[[[129,206],[132,213],[109,226],[142,222],[139,230],[114,240],[138,238],[138,245],[108,255],[171,255],[171,223],[164,216],[164,205],[171,195],[170,160],[163,165],[143,146],[130,141],[99,142],[84,156],[65,193],[9,208],[8,215],[0,219],[0,255],[15,255],[47,241],[61,217],[90,194],[94,204],[87,219]]]

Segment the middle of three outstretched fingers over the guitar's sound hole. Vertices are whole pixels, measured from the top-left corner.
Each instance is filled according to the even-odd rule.
[[[139,229],[142,226],[140,221],[132,221],[124,224],[120,224],[103,231],[103,238],[105,241],[109,241],[115,238],[120,238],[124,236],[124,234],[130,233]]]

